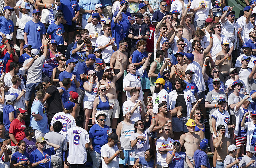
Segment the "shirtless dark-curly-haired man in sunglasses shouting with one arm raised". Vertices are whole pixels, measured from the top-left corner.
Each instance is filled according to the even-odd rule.
[[[209,31],[210,37],[212,37],[212,31]],[[210,38],[210,45],[208,45],[203,51],[201,48],[201,41],[194,40],[192,42],[192,48],[194,51],[194,61],[198,62],[201,67],[203,67],[203,62],[205,61],[205,56],[211,51],[213,46],[213,38]],[[211,62],[211,66],[214,67],[214,62]]]

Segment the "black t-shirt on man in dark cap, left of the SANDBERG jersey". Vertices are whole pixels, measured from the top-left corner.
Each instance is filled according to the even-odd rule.
[[[55,115],[58,112],[63,111],[62,109],[62,101],[60,97],[60,92],[56,88],[56,86],[51,85],[46,89],[46,93],[51,95],[46,102],[47,102],[47,115]]]

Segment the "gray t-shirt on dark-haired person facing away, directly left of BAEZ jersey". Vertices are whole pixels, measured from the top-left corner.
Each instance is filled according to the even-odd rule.
[[[62,151],[67,150],[67,142],[64,135],[58,132],[48,132],[44,135],[44,138],[47,139],[48,142],[51,142],[56,145],[60,145],[60,148],[56,150],[56,154],[52,155],[52,158],[60,158],[61,159],[61,153]],[[52,146],[46,145],[47,148],[51,148]]]

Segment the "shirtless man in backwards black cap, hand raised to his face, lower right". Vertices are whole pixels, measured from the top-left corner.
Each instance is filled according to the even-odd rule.
[[[215,148],[215,153],[213,158],[217,157],[218,166],[224,166],[224,160],[227,155],[229,155],[228,147],[231,145],[231,140],[225,137],[226,128],[224,125],[218,125],[217,127],[218,136],[213,139],[213,146]],[[214,165],[215,159],[213,160]]]

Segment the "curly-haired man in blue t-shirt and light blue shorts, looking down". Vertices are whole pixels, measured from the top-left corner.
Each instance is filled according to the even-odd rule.
[[[129,58],[129,62],[135,64],[136,70],[140,69],[147,59],[147,53],[145,52],[146,45],[147,45],[147,42],[144,40],[137,41],[137,44],[136,44],[137,50],[135,50],[132,53],[131,57]],[[142,91],[144,93],[143,94],[144,104],[146,104],[147,97],[150,91],[150,81],[148,78],[147,69],[144,70],[144,73],[141,76],[141,85],[142,85]]]

